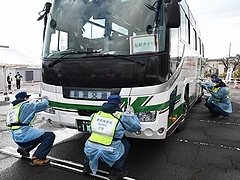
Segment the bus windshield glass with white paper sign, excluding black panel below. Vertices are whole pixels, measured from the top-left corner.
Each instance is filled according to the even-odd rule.
[[[56,58],[63,51],[101,51],[101,54],[117,55],[164,51],[164,13],[161,1],[154,2],[53,1],[43,56]],[[154,4],[157,11],[146,8],[146,3]]]

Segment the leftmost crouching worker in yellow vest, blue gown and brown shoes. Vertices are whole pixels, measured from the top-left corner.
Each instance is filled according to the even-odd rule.
[[[10,127],[12,138],[18,145],[17,152],[22,156],[29,156],[29,152],[40,144],[31,158],[30,165],[45,166],[50,164],[46,156],[52,148],[55,134],[34,128],[32,123],[36,113],[47,109],[48,100],[43,99],[41,102],[33,103],[28,101],[30,96],[25,91],[16,94],[6,124]]]

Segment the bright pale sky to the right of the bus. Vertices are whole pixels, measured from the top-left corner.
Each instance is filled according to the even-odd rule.
[[[202,32],[209,59],[240,54],[240,1],[187,0]],[[231,49],[230,48],[231,43]]]

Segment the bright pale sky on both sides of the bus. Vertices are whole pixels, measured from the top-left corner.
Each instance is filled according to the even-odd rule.
[[[0,44],[41,62],[43,21],[37,21],[47,0],[0,2]],[[51,1],[50,1],[51,2]],[[206,58],[240,54],[240,0],[187,0],[202,32]]]

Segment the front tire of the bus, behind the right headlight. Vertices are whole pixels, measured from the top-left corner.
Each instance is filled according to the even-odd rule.
[[[183,115],[181,118],[181,122],[177,127],[177,132],[183,131],[188,123],[188,115],[189,115],[189,101],[188,101],[188,93],[185,91],[184,94],[184,102],[183,102]]]

